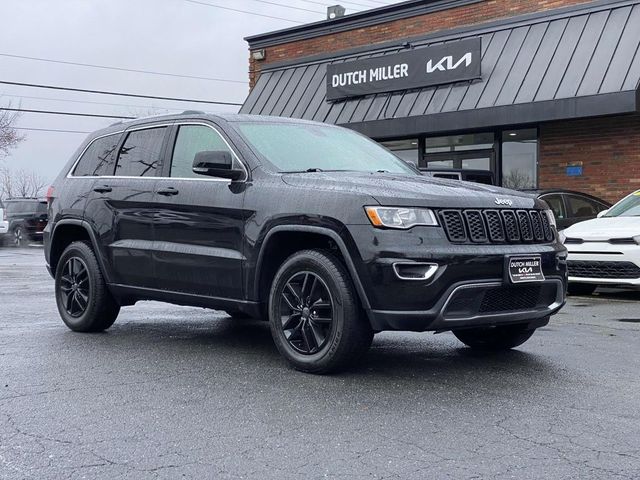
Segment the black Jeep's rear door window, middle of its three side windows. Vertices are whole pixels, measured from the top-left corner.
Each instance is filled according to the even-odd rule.
[[[148,128],[129,133],[118,154],[116,175],[155,176],[161,167],[160,155],[166,130],[166,127]]]

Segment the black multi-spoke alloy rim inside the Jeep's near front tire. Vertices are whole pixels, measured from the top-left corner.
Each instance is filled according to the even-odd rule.
[[[334,303],[327,284],[313,272],[297,272],[280,296],[282,330],[289,345],[313,355],[327,344],[333,328]]]

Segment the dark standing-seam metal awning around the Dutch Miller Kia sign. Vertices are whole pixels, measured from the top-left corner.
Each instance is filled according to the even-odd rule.
[[[480,80],[327,101],[329,63],[403,50],[387,45],[266,68],[241,112],[335,123],[385,138],[638,110],[640,0],[515,17],[412,39],[412,45],[468,38],[481,39]]]

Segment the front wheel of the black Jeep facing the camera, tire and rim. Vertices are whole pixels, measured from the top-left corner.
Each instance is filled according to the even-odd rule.
[[[354,364],[373,340],[349,273],[324,250],[303,250],[284,261],[271,286],[269,324],[280,354],[308,373]]]

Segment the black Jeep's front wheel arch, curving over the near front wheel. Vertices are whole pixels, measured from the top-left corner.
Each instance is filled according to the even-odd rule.
[[[282,248],[283,243],[284,248]],[[296,251],[308,248],[327,248],[334,245],[337,249],[336,253],[339,253],[339,257],[349,272],[361,305],[365,311],[369,310],[371,308],[369,300],[344,239],[335,230],[313,225],[278,225],[267,232],[256,262],[252,286],[253,298],[264,302],[265,296],[268,297],[268,286],[277,269],[287,257]]]

